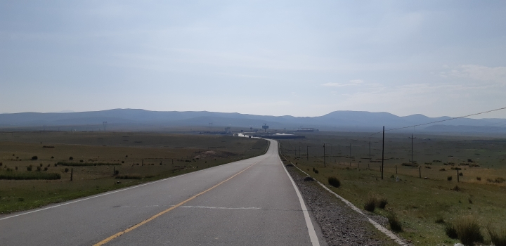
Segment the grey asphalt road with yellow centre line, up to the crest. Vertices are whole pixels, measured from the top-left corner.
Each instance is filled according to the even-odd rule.
[[[321,242],[275,141],[259,157],[0,216],[0,245]]]

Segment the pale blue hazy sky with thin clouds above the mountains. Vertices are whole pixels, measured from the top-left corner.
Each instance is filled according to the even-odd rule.
[[[503,0],[0,1],[0,112],[502,107]]]

